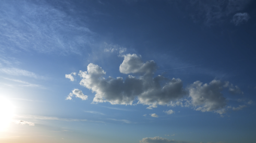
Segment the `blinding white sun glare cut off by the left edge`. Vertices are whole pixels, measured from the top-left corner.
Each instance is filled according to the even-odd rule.
[[[13,105],[5,98],[0,97],[0,131],[4,131],[12,121]]]

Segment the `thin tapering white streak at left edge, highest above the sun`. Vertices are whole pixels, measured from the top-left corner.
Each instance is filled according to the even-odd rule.
[[[35,79],[43,79],[43,76],[38,76],[33,72],[27,71],[27,70],[21,70],[17,68],[1,68],[0,73],[9,74],[12,76],[27,76],[27,77],[33,77]]]

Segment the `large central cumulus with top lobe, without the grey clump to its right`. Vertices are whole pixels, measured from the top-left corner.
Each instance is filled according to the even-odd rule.
[[[103,76],[106,72],[100,66],[90,63],[87,71],[79,71],[82,78],[80,85],[96,93],[93,103],[132,105],[137,97],[137,104],[149,105],[148,109],[167,105],[185,95],[182,80],[168,79],[162,75],[153,77],[155,69],[154,61],[143,63],[141,56],[127,54],[119,69],[121,73],[141,73],[142,76],[128,75],[125,80],[122,77],[105,79]]]

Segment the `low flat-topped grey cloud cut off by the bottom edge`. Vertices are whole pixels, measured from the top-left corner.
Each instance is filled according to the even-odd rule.
[[[186,143],[186,142],[169,140],[162,137],[146,137],[140,140],[140,143]]]

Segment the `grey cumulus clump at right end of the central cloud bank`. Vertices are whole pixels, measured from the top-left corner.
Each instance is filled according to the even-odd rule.
[[[226,106],[226,98],[223,97],[222,82],[213,80],[209,84],[196,81],[188,88],[191,104],[197,111],[214,111]]]

